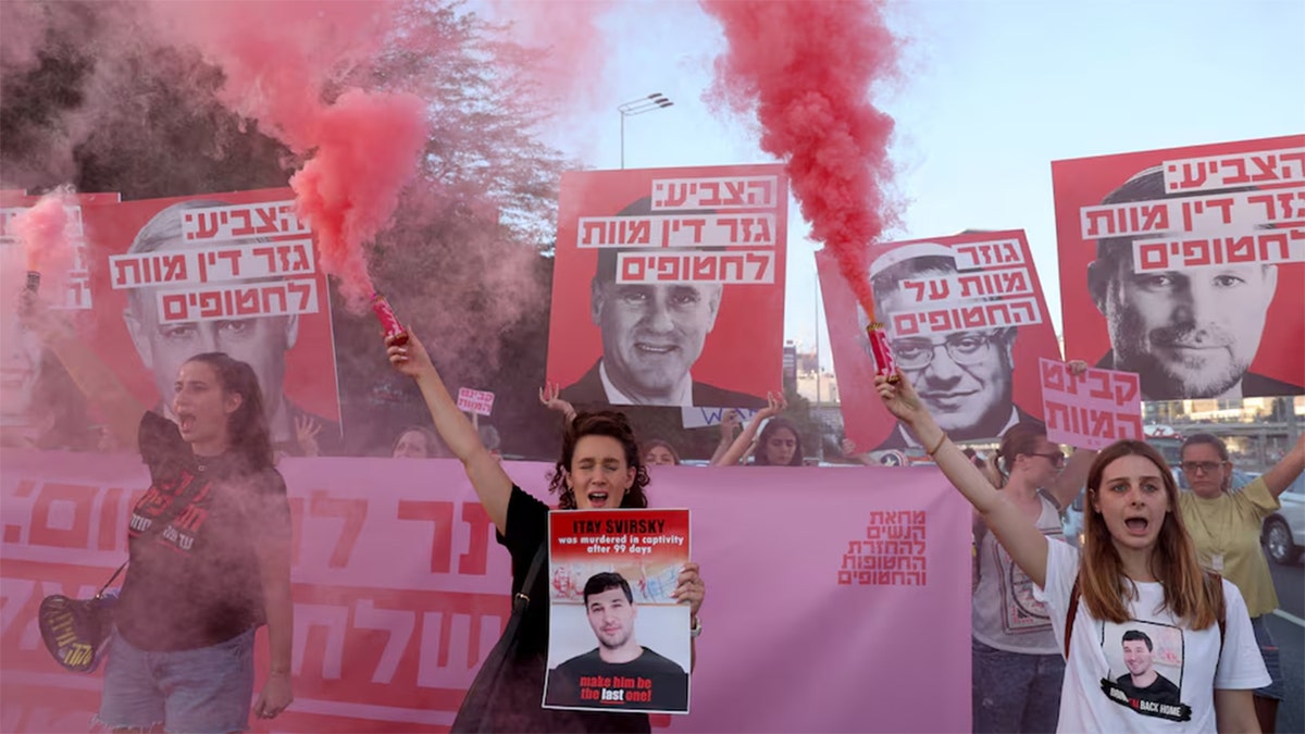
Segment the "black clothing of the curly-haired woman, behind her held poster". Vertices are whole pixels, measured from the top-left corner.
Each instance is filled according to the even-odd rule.
[[[530,563],[548,541],[548,505],[521,487],[508,500],[508,533],[499,543],[512,554],[512,593],[530,572]],[[547,549],[545,551],[547,552]],[[530,603],[522,616],[517,656],[508,662],[508,683],[496,710],[496,731],[651,731],[646,713],[606,713],[543,708],[544,669],[548,663],[548,559],[526,592]]]

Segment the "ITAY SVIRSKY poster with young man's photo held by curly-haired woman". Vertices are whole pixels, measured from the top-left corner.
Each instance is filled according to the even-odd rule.
[[[544,708],[689,713],[688,509],[553,512]]]

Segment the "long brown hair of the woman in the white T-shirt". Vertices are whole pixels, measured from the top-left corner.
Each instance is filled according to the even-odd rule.
[[[1205,630],[1223,616],[1223,589],[1214,588],[1219,581],[1197,560],[1195,545],[1178,512],[1178,485],[1173,474],[1160,452],[1144,441],[1114,441],[1096,455],[1087,470],[1088,512],[1083,517],[1083,558],[1078,564],[1083,603],[1094,618],[1122,624],[1130,618],[1126,597],[1137,598],[1137,586],[1124,575],[1124,560],[1095,507],[1105,468],[1125,456],[1141,456],[1154,464],[1169,499],[1169,511],[1151,552],[1151,573],[1164,586],[1164,606],[1193,630]]]

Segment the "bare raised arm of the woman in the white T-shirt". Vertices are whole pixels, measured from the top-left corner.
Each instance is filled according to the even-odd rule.
[[[933,421],[933,415],[920,402],[920,396],[910,380],[898,372],[899,381],[889,383],[882,375],[874,377],[874,388],[893,415],[906,423],[924,444],[953,486],[960,490],[970,504],[979,511],[983,521],[1001,541],[1011,560],[1039,586],[1047,582],[1047,535],[1026,517],[1004,492],[997,491],[970,457],[947,439],[947,434]]]

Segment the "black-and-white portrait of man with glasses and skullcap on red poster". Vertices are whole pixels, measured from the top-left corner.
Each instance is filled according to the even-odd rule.
[[[894,312],[920,307],[903,281],[957,276],[950,247],[920,243],[897,248],[876,259],[869,273],[874,308],[889,325],[898,367],[953,440],[996,439],[1010,426],[1035,419],[1013,400],[1014,327],[920,336],[893,332]],[[919,444],[898,426],[876,451],[894,448],[919,448]]]

